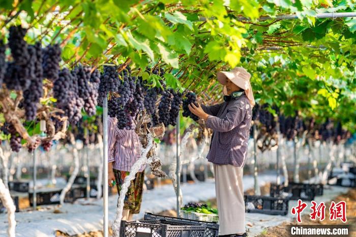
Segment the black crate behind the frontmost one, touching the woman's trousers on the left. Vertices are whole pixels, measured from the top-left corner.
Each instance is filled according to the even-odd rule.
[[[184,219],[179,217],[166,217],[166,216],[155,215],[152,213],[146,213],[144,215],[144,220],[160,220],[160,219],[172,220],[172,221],[180,222],[182,224],[202,224],[206,226],[204,237],[217,237],[219,235],[219,224],[217,224],[216,222],[196,221],[196,220]]]

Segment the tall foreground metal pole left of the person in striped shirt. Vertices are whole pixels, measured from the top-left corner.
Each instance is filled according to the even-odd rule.
[[[104,168],[104,195],[103,195],[103,208],[104,208],[104,237],[109,236],[109,208],[108,208],[108,128],[107,128],[107,96],[105,96],[103,101],[103,146],[104,146],[104,159],[103,159],[103,168]]]

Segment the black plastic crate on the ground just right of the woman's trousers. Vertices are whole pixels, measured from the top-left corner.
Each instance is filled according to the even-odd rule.
[[[245,212],[268,215],[288,214],[288,198],[244,195]]]

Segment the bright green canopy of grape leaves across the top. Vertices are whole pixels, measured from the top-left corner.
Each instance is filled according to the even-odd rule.
[[[21,24],[27,42],[60,44],[67,67],[130,64],[133,74],[160,83],[144,70],[159,66],[169,87],[213,101],[222,96],[216,72],[243,66],[257,102],[354,129],[356,19],[316,18],[354,12],[352,0],[0,3],[5,41],[10,26]],[[276,18],[285,14],[298,18]]]

